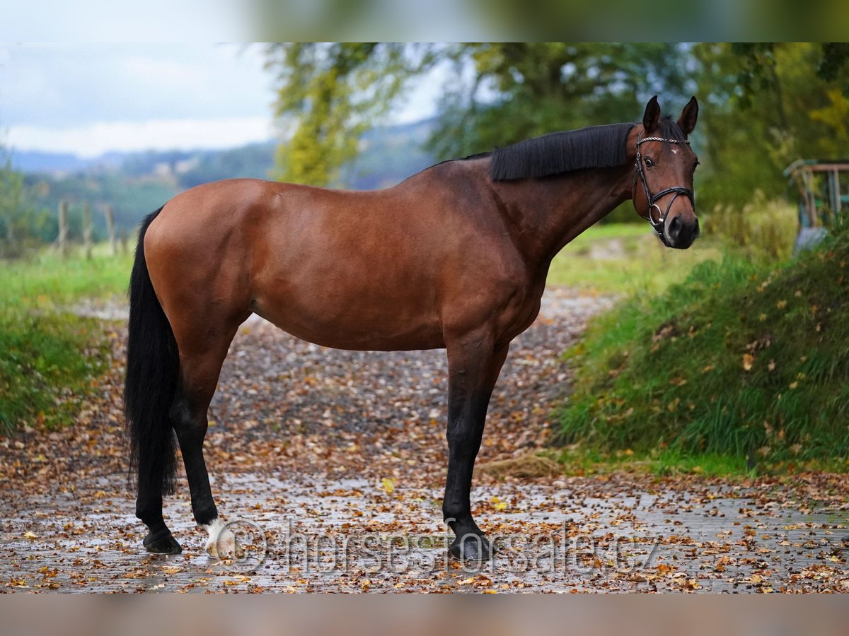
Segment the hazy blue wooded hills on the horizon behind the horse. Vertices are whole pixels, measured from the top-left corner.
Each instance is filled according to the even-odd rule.
[[[368,131],[360,155],[342,170],[342,187],[388,187],[436,163],[422,148],[433,125],[433,120],[424,120]],[[54,210],[61,199],[68,200],[70,232],[78,235],[82,204],[88,202],[95,209],[95,231],[103,236],[99,210],[104,205],[112,205],[117,225],[129,232],[143,215],[189,187],[233,177],[271,178],[276,147],[268,141],[224,150],[107,153],[94,159],[14,151],[12,161],[35,193],[32,207]],[[51,232],[45,228],[46,234]]]

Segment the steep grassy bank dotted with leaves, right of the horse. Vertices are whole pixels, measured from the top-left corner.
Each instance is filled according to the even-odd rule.
[[[613,458],[734,471],[849,457],[849,238],[781,267],[695,265],[633,296],[567,355],[562,440]],[[724,470],[724,469],[722,469]]]

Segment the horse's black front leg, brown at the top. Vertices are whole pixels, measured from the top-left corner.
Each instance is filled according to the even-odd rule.
[[[486,408],[509,343],[496,344],[488,333],[473,333],[447,343],[448,478],[442,514],[456,538],[451,554],[482,561],[492,548],[472,518],[469,491],[475,457],[481,448]]]

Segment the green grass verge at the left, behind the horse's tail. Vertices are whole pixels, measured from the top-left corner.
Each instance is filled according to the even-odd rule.
[[[80,298],[124,293],[131,259],[100,248],[92,260],[41,258],[0,264],[0,434],[22,422],[70,421],[104,370],[98,321],[73,315]]]

